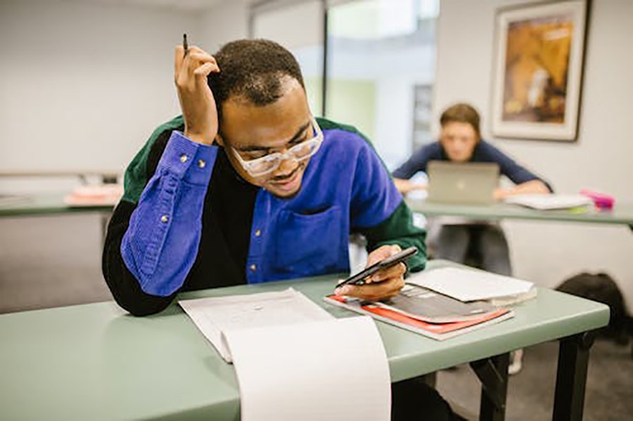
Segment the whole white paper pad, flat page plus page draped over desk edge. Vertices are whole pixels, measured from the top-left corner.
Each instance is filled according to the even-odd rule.
[[[334,318],[292,288],[179,304],[233,361],[242,420],[390,419],[389,366],[371,318]]]

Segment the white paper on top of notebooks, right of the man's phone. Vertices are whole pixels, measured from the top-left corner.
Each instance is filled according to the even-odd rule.
[[[463,302],[526,294],[534,287],[527,280],[461,268],[422,271],[409,276],[407,283],[426,287]]]

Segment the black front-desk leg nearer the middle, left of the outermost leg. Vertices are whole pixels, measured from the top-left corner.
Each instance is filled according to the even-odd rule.
[[[509,361],[510,354],[506,353],[471,363],[481,382],[480,420],[503,421],[506,418]]]

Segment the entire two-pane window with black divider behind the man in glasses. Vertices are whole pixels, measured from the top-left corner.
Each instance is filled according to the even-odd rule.
[[[295,54],[314,115],[354,125],[395,169],[433,140],[439,12],[440,0],[268,1],[250,31]]]

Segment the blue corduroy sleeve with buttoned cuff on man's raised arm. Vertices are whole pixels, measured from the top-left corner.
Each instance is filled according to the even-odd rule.
[[[193,266],[216,156],[217,146],[172,132],[121,242],[125,266],[147,294],[177,291]]]

